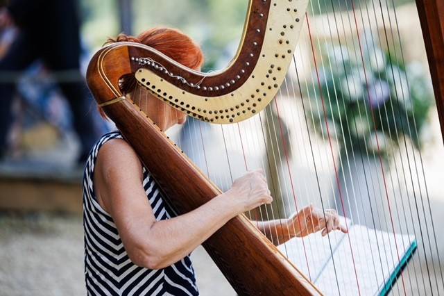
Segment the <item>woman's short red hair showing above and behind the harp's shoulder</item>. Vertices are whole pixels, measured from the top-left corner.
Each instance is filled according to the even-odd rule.
[[[109,38],[106,44],[126,41],[153,47],[153,49],[160,51],[165,56],[169,56],[169,58],[191,69],[199,70],[204,62],[203,52],[198,44],[174,28],[151,28],[137,37],[122,33],[115,39]],[[128,94],[135,90],[136,85],[137,81],[134,74],[126,74],[122,77],[119,86],[123,94]],[[101,108],[99,108],[99,111],[105,117]]]

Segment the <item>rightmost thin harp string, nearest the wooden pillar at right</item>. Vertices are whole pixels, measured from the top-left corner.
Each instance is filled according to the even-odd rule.
[[[386,3],[387,3],[387,0],[386,0]],[[399,46],[399,48],[400,48],[400,57],[401,57],[402,65],[405,66],[404,52],[403,52],[403,50],[402,50],[402,42],[401,42],[401,38],[400,38],[400,29],[399,29],[399,25],[398,25],[398,17],[397,17],[397,15],[396,15],[395,3],[393,2],[393,0],[392,0],[392,5],[393,5],[393,14],[394,14],[394,17],[395,17],[396,32],[397,32],[397,35],[398,35],[398,42],[399,42],[399,45],[400,45],[400,46]],[[388,11],[388,3],[387,3],[387,11]],[[392,38],[394,38],[393,36],[394,36],[395,34],[393,34],[393,27],[392,27],[392,23],[391,23],[390,13],[388,13],[388,20],[389,20],[389,22],[390,22],[390,28],[391,28],[391,33],[392,33],[391,35],[392,35]],[[395,44],[395,41],[394,41],[394,40],[393,40],[393,44]],[[395,51],[395,53],[396,53],[396,51]],[[407,77],[407,79],[406,79],[406,82],[407,82],[407,86],[408,86],[408,90],[409,90],[409,95],[410,95],[410,85],[409,85],[409,79],[408,79],[408,77]],[[410,102],[410,104],[411,104],[411,108],[413,108],[413,103]],[[418,127],[416,126],[416,118],[415,118],[415,117],[413,117],[413,127],[414,127],[414,131],[415,131],[416,135],[418,135]],[[410,133],[410,132],[411,132],[411,131],[410,131],[410,129],[409,129],[409,133]],[[412,144],[412,145],[413,145],[413,144]],[[436,257],[437,257],[437,259],[438,259],[438,267],[439,267],[439,272],[440,272],[440,274],[441,274],[441,282],[443,283],[443,288],[444,288],[443,271],[442,271],[442,268],[441,268],[441,259],[440,259],[440,256],[439,256],[438,243],[437,243],[437,240],[436,240],[436,231],[435,231],[435,228],[434,228],[434,220],[433,220],[433,215],[432,215],[432,207],[430,206],[430,197],[429,197],[429,191],[428,191],[428,188],[427,188],[427,181],[426,181],[427,179],[426,179],[426,177],[425,177],[424,163],[423,163],[423,161],[422,161],[422,152],[419,150],[419,151],[418,151],[418,154],[419,154],[419,158],[420,158],[420,165],[421,165],[421,171],[422,171],[422,178],[423,178],[423,180],[424,180],[425,193],[426,193],[426,196],[427,196],[428,211],[429,211],[429,215],[430,215],[430,221],[431,221],[431,224],[432,224],[432,233],[433,233],[433,236],[434,236],[435,249],[436,249]],[[414,157],[414,154],[413,154],[413,157]],[[416,163],[416,161],[415,161],[415,163]],[[437,286],[438,286],[438,284],[437,284]],[[438,288],[438,293],[439,293],[439,288]]]

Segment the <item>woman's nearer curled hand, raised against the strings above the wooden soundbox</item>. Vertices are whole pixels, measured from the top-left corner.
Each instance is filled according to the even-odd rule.
[[[241,178],[236,179],[230,190],[223,195],[237,205],[238,214],[273,202],[262,170],[247,172]]]

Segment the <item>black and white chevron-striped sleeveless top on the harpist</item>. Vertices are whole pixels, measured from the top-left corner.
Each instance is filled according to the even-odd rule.
[[[103,135],[92,148],[83,176],[85,281],[88,295],[198,295],[189,256],[161,270],[148,270],[128,258],[112,217],[97,202],[93,173],[99,149],[121,133]],[[171,217],[157,184],[144,168],[144,189],[157,221]]]

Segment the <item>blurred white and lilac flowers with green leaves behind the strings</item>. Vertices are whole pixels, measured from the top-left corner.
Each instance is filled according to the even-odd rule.
[[[309,115],[317,133],[323,138],[332,135],[342,149],[384,157],[397,151],[392,146],[404,136],[420,149],[434,101],[432,85],[420,63],[404,65],[378,44],[364,48],[364,65],[359,55],[339,45],[325,44],[322,54],[334,64],[314,70],[311,79],[319,77],[320,82],[309,94]]]

